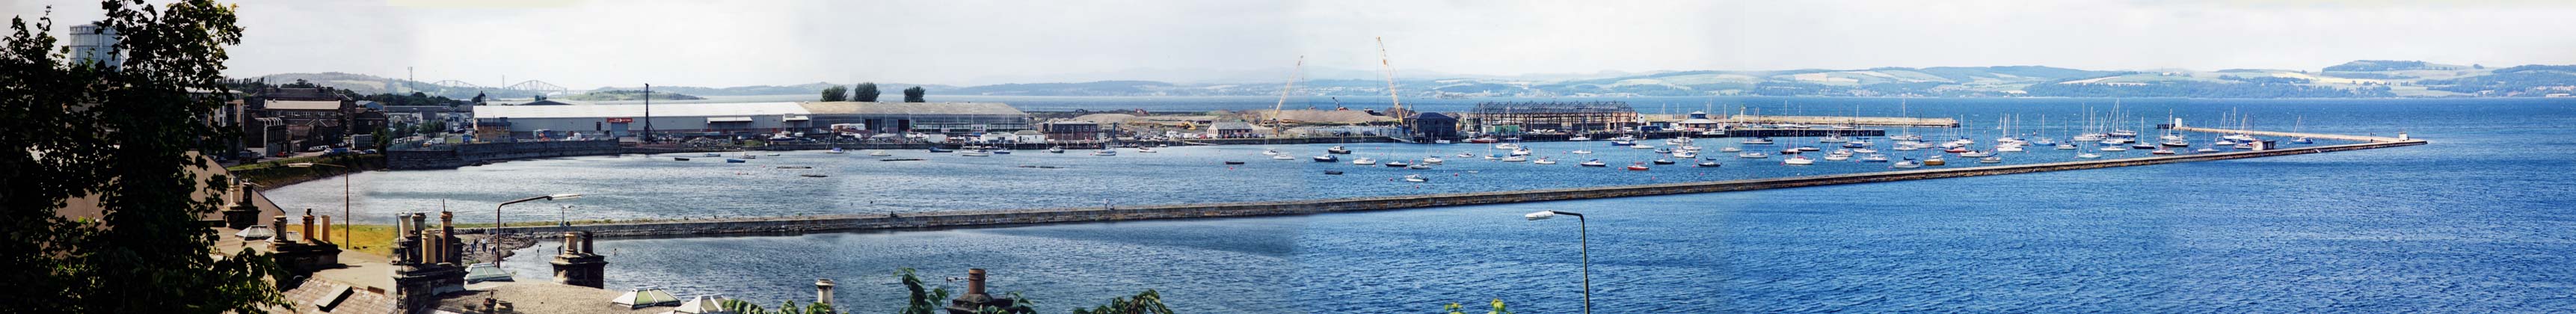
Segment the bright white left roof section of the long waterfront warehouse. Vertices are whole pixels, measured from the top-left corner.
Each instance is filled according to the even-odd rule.
[[[804,116],[796,103],[659,103],[652,116]],[[644,118],[644,106],[474,106],[477,118]]]

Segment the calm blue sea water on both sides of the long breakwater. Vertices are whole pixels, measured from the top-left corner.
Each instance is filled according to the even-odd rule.
[[[1811,111],[1852,106],[1862,113],[1893,111],[1893,100],[1790,100]],[[2079,116],[2084,103],[2107,106],[2107,100],[1911,103],[1919,116],[1965,116],[1973,126],[1960,131],[1976,139],[1991,139],[1991,129],[1978,121],[2004,113],[2022,113],[2030,124],[2038,113],[2048,113],[2056,124],[2058,116]],[[2434,144],[1749,193],[1262,219],[608,239],[600,247],[611,250],[611,286],[670,286],[675,293],[729,293],[773,304],[811,299],[814,278],[835,278],[842,283],[840,299],[863,311],[896,306],[902,293],[889,275],[894,268],[920,268],[930,278],[989,268],[994,291],[1025,291],[1043,301],[1046,311],[1159,288],[1182,311],[1432,311],[1450,301],[1504,299],[1528,314],[1569,314],[1582,309],[1577,221],[1520,219],[1528,211],[1558,208],[1602,219],[1595,226],[1600,232],[1589,234],[1595,306],[1605,311],[2576,309],[2571,299],[2576,260],[2568,260],[2576,255],[2576,214],[2566,208],[2576,203],[2571,188],[2576,180],[2563,175],[2566,165],[2576,165],[2571,100],[2123,100],[2123,108],[2156,118],[2174,111],[2195,121],[2233,108],[2254,116],[2259,129],[2290,129],[2293,116],[2303,116],[2306,131],[2403,129]],[[1811,142],[1783,139],[1783,144]],[[1383,157],[1455,154],[1381,144],[1355,144],[1355,149]],[[1540,152],[1553,149],[1574,147],[1540,147]],[[1600,160],[1643,160],[1643,152],[1595,149]],[[1427,170],[1455,172],[1453,178],[1417,188],[1388,183],[1396,172],[1414,170],[1273,162],[1252,152],[1257,147],[1193,147],[1151,157],[1023,152],[912,165],[819,162],[855,157],[814,154],[819,170],[835,172],[827,180],[757,167],[786,165],[801,154],[762,157],[752,165],[577,157],[453,172],[381,172],[361,175],[361,183],[368,198],[448,198],[451,206],[603,188],[582,190],[598,198],[577,201],[574,211],[724,216],[1087,206],[1100,203],[1100,193],[1115,193],[1113,203],[1190,203],[1878,170],[1878,165],[1783,167],[1770,165],[1777,160],[1723,160],[1726,167],[1705,172],[1672,165],[1618,172],[1577,170],[1574,160],[1535,167],[1453,157],[1450,167]],[[1314,154],[1311,147],[1291,152]],[[2071,152],[2035,149],[2007,160],[2045,162],[2050,154]],[[1224,170],[1218,160],[1252,165]],[[1012,165],[1066,170],[1036,172]],[[1352,172],[1316,175],[1316,170]],[[397,185],[433,188],[389,193],[407,190]],[[294,196],[299,188],[307,196]],[[304,203],[330,203],[319,190],[319,185],[294,185],[283,188],[278,201],[294,203],[289,201],[294,196]],[[526,216],[541,219],[541,214]],[[531,247],[536,255],[551,250]],[[533,257],[513,260],[510,268],[546,273]]]

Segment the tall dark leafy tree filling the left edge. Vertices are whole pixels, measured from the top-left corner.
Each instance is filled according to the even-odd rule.
[[[283,306],[268,255],[214,250],[198,216],[229,188],[193,167],[229,131],[201,124],[229,100],[224,46],[242,41],[234,8],[214,0],[103,0],[124,64],[67,64],[52,8],[10,18],[0,51],[0,296],[8,314],[219,314]],[[57,214],[95,198],[98,219]]]

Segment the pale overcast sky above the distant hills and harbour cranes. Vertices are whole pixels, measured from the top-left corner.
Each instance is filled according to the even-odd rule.
[[[95,0],[0,0],[95,21]],[[2048,64],[2576,64],[2568,0],[240,0],[229,75],[564,88]],[[57,28],[59,33],[62,28]]]

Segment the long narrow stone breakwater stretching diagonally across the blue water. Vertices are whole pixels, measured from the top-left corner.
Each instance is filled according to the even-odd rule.
[[[2275,136],[2339,139],[2339,136],[2329,136],[2329,134],[2287,134],[2287,131],[2267,131],[2267,134],[2275,134]],[[940,211],[940,214],[842,214],[842,216],[641,221],[641,224],[577,224],[577,226],[569,226],[569,229],[574,229],[574,232],[598,232],[598,234],[608,234],[608,237],[667,237],[667,234],[796,234],[796,232],[848,232],[848,229],[933,229],[933,226],[1005,226],[1005,224],[1064,224],[1064,221],[1288,216],[1288,214],[1391,211],[1391,208],[1481,206],[1481,203],[1525,203],[1525,201],[1582,201],[1582,198],[1631,198],[1631,196],[1674,196],[1674,193],[1726,193],[1726,190],[1767,190],[1767,188],[1808,188],[1808,185],[1850,185],[1850,183],[1932,180],[1932,178],[1978,178],[1978,175],[2014,175],[2014,172],[2097,170],[2097,167],[2133,167],[2133,165],[2246,160],[2246,157],[2285,157],[2285,154],[2318,154],[2318,152],[2347,152],[2347,149],[2385,149],[2385,147],[2414,147],[2414,144],[2427,144],[2427,142],[2421,142],[2421,139],[2393,139],[2393,142],[2360,142],[2360,144],[2295,147],[2295,149],[2254,149],[2254,152],[2213,152],[2213,154],[2079,160],[2079,162],[2043,162],[2043,165],[1942,167],[1942,170],[1896,170],[1896,172],[1850,172],[1850,175],[1801,175],[1801,178],[1710,180],[1710,183],[1551,188],[1551,190],[1370,196],[1370,198],[1321,198],[1321,201],[1172,203],[1172,206],[1084,206],[1084,208],[1012,208],[1012,211]],[[459,229],[459,232],[482,232],[482,229]],[[564,226],[505,226],[502,232],[564,232]]]

